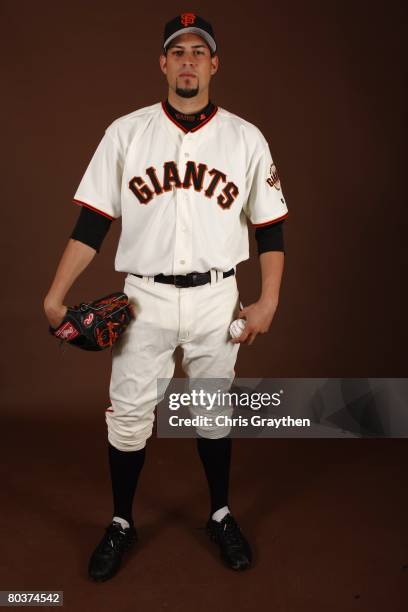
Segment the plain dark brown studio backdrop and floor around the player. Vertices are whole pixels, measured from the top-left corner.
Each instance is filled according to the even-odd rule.
[[[73,610],[406,609],[403,440],[234,441],[232,507],[256,559],[237,577],[196,530],[208,501],[193,441],[152,438],[141,547],[89,584],[111,511],[110,355],[60,351],[42,311],[86,165],[113,119],[165,96],[163,24],[192,10],[219,40],[212,99],[263,131],[290,211],[279,310],[241,347],[238,376],[405,377],[402,5],[2,1],[0,589],[64,589]],[[122,287],[119,230],[68,302]],[[253,230],[251,246],[246,304],[260,286]]]

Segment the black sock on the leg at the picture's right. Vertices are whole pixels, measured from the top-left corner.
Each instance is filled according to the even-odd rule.
[[[231,438],[197,437],[198,454],[202,461],[210,491],[211,513],[228,506],[229,472],[231,465]]]

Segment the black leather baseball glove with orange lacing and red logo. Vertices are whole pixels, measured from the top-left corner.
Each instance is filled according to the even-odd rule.
[[[116,292],[93,302],[68,306],[60,325],[49,326],[49,332],[62,342],[85,351],[102,351],[112,347],[133,318],[125,293]]]

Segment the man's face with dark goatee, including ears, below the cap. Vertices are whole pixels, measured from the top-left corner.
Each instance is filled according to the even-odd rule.
[[[181,34],[172,42],[167,55],[160,56],[160,67],[172,91],[183,98],[193,98],[208,89],[217,72],[218,57],[197,34]]]

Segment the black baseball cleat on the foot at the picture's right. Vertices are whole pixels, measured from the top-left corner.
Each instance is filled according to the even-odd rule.
[[[232,514],[217,522],[210,518],[206,532],[220,548],[221,559],[233,570],[247,569],[252,562],[251,548]]]

